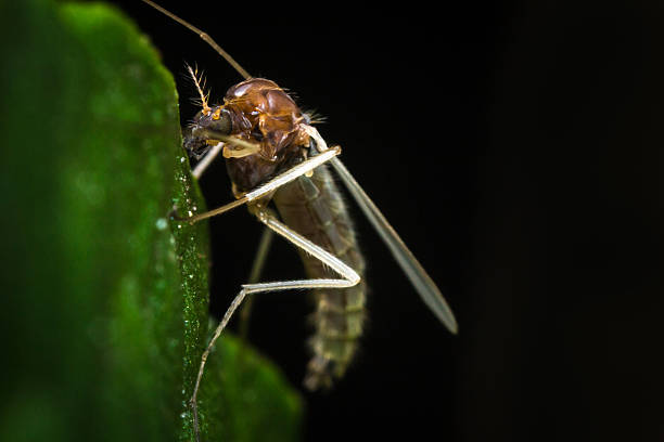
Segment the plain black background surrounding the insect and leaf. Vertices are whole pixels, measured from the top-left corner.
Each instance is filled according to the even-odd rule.
[[[205,70],[213,101],[241,80],[183,27],[115,3],[176,76],[184,123],[196,112],[184,62]],[[327,117],[320,132],[458,315],[452,337],[350,204],[370,321],[335,389],[303,392],[307,441],[664,439],[657,2],[401,4],[388,22],[384,6],[320,21],[343,11],[162,4]],[[209,207],[232,200],[222,161],[201,183]],[[244,210],[210,226],[219,315],[260,226]],[[264,278],[302,274],[277,240]],[[296,386],[304,298],[260,295],[250,333]]]

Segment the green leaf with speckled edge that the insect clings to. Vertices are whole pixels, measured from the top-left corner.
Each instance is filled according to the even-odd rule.
[[[207,226],[173,76],[104,4],[0,3],[0,440],[192,440]],[[194,209],[195,207],[195,209]],[[205,440],[294,440],[298,395],[225,336]]]

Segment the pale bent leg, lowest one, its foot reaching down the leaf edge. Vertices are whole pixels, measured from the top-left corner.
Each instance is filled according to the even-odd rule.
[[[319,280],[278,281],[278,282],[272,282],[272,283],[245,284],[242,286],[242,289],[235,296],[230,307],[224,314],[224,317],[221,318],[221,322],[217,326],[217,329],[215,330],[213,338],[207,344],[207,349],[205,349],[205,352],[203,352],[203,356],[201,358],[201,366],[199,368],[199,376],[196,377],[196,384],[194,386],[193,394],[190,400],[190,404],[191,404],[191,407],[193,411],[193,417],[194,417],[194,432],[196,434],[196,441],[200,440],[199,411],[197,411],[197,405],[196,405],[196,399],[199,394],[199,387],[201,385],[201,378],[203,377],[203,373],[205,370],[205,362],[207,361],[209,352],[214,348],[215,342],[221,335],[221,332],[224,332],[231,316],[233,315],[235,310],[238,310],[238,307],[240,307],[240,304],[242,303],[242,301],[247,295],[263,292],[263,291],[279,291],[279,290],[293,290],[293,289],[346,288],[346,287],[353,287],[360,282],[360,276],[357,274],[357,272],[355,272],[355,270],[346,265],[342,260],[336,258],[334,255],[328,252],[322,247],[317,246],[316,244],[311,243],[309,239],[299,235],[295,231],[289,229],[285,224],[277,220],[277,217],[272,214],[268,209],[266,209],[265,207],[258,206],[258,205],[252,206],[252,209],[256,218],[258,218],[258,220],[261,223],[264,223],[266,226],[268,226],[271,231],[284,237],[285,239],[291,242],[293,245],[305,250],[307,253],[311,255],[312,257],[319,259],[321,262],[323,262],[334,272],[340,274],[342,278],[341,280],[319,278]]]

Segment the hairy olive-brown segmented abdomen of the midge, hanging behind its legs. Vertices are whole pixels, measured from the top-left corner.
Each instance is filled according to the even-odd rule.
[[[309,390],[330,387],[345,373],[362,333],[365,321],[365,260],[345,204],[330,171],[316,169],[311,178],[301,177],[273,196],[282,220],[291,229],[330,251],[360,275],[360,283],[344,289],[314,290],[316,333],[309,343],[314,353],[305,378]],[[341,277],[319,260],[299,250],[311,278]]]

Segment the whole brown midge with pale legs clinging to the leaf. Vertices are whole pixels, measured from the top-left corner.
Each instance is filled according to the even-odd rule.
[[[189,68],[202,105],[184,136],[184,148],[200,159],[193,174],[201,177],[221,153],[235,202],[179,219],[194,223],[246,204],[248,211],[266,226],[268,235],[277,233],[297,248],[308,276],[306,280],[257,283],[267,252],[267,247],[260,248],[258,264],[252,272],[255,276],[242,286],[203,353],[190,401],[196,440],[200,438],[196,398],[205,362],[247,295],[312,290],[316,332],[310,339],[312,358],[304,380],[306,388],[330,387],[333,379],[344,375],[353,360],[365,320],[365,262],[350,218],[327,165],[331,165],[341,178],[424,303],[456,334],[457,322],[440,290],[337,158],[341,147],[329,147],[314,127],[311,117],[273,81],[252,77],[207,34],[151,0],[142,1],[197,34],[244,77],[244,81],[228,90],[224,104],[209,105],[202,80]],[[279,216],[268,207],[270,203]]]

